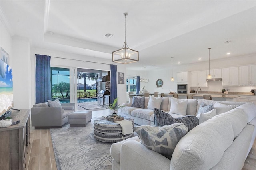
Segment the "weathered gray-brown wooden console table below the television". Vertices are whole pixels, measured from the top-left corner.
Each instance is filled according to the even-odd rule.
[[[12,111],[11,117],[20,123],[0,128],[0,169],[23,170],[30,143],[30,109]]]

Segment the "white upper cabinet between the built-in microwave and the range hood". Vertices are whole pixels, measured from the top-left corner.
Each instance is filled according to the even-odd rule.
[[[191,71],[190,72],[190,87],[206,87],[207,86],[207,71]]]

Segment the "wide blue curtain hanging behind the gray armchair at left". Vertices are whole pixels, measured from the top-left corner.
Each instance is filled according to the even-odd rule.
[[[36,54],[36,104],[51,97],[51,57]]]

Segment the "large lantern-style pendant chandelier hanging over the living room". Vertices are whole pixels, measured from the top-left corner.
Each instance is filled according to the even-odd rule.
[[[124,13],[124,45],[121,49],[112,52],[112,61],[116,63],[129,64],[139,61],[139,52],[130,49],[126,44],[126,16]]]

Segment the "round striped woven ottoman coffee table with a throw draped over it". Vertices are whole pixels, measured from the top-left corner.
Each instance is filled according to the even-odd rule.
[[[132,122],[132,127],[134,127],[134,119],[124,117],[124,119]],[[93,122],[93,133],[94,137],[102,142],[120,142],[122,141],[122,127],[119,123],[108,121],[104,117],[98,117]],[[132,137],[134,134],[124,135],[124,139]]]

